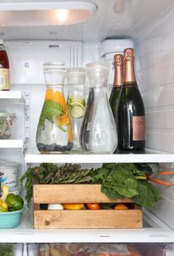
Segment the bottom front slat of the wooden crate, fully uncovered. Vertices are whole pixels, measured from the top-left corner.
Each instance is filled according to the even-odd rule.
[[[35,210],[35,229],[142,228],[141,210]]]

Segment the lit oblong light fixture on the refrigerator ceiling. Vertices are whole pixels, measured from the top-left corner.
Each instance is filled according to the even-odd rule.
[[[86,1],[4,1],[0,3],[0,26],[77,24],[96,11],[97,5]]]

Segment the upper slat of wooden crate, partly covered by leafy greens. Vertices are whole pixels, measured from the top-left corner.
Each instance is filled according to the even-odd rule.
[[[100,189],[100,184],[34,184],[33,201],[34,204],[132,202],[129,198],[112,201]]]

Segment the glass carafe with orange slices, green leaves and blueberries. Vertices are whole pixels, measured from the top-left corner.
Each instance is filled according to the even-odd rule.
[[[46,97],[36,134],[41,153],[66,153],[73,146],[72,122],[63,94],[65,75],[65,63],[44,63]]]

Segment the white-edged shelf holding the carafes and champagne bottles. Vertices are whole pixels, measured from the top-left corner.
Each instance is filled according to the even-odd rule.
[[[103,163],[103,162],[174,162],[174,154],[146,151],[145,153],[120,154],[41,154],[27,153],[26,163]]]

